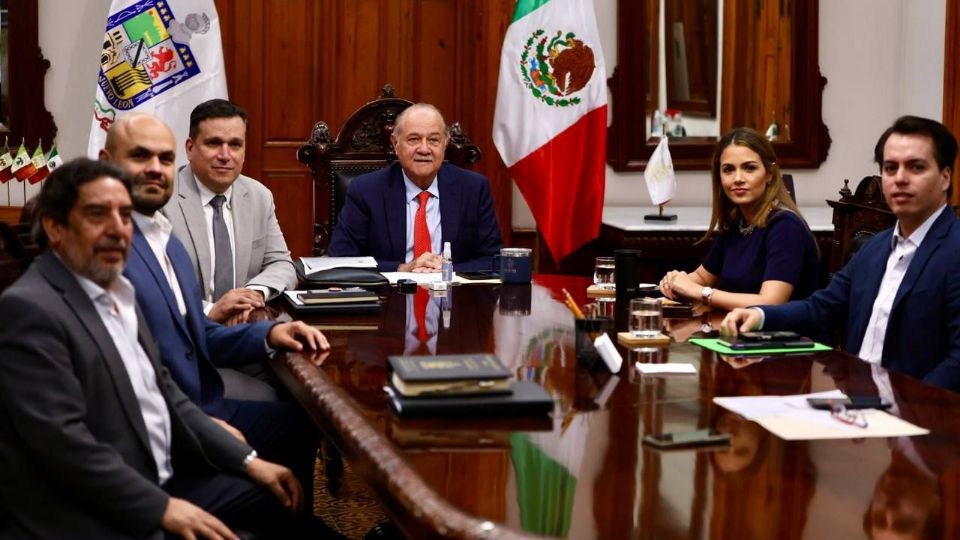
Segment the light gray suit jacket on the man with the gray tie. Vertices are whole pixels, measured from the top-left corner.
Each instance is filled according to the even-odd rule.
[[[233,183],[232,204],[237,286],[268,287],[270,298],[286,289],[296,288],[297,271],[277,222],[270,190],[260,182],[241,175]],[[176,189],[162,212],[173,224],[173,234],[187,248],[200,279],[200,289],[204,298],[208,298],[213,276],[210,263],[212,246],[207,240],[207,223],[203,218],[200,190],[190,165],[182,167],[177,174]]]

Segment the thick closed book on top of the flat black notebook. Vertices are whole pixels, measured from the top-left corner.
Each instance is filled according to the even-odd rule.
[[[390,379],[403,396],[464,395],[510,391],[510,372],[493,354],[391,356]]]

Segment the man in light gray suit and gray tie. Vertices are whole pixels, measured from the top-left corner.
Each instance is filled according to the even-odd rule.
[[[223,99],[197,105],[185,143],[189,165],[163,208],[193,261],[207,315],[227,324],[297,285],[273,195],[240,174],[246,134],[242,108]]]

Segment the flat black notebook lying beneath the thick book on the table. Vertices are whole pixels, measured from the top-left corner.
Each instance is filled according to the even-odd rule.
[[[516,417],[549,414],[553,399],[543,388],[529,381],[514,381],[509,394],[405,397],[390,387],[390,408],[397,415],[410,417]]]

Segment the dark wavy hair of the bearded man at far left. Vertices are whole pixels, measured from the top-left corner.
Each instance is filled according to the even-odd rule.
[[[47,246],[47,233],[41,223],[43,218],[49,217],[56,223],[66,225],[70,210],[80,198],[80,186],[104,176],[116,178],[130,191],[130,176],[110,161],[77,158],[50,173],[37,196],[36,218],[33,222],[33,238],[40,247]]]

